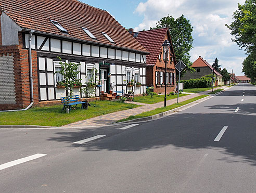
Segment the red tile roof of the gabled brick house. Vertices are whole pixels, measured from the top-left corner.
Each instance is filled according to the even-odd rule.
[[[168,32],[168,28],[163,29],[155,29],[155,30],[147,30],[147,31],[140,31],[134,32],[138,33],[136,37],[137,41],[143,45],[148,52],[150,53],[147,55],[147,65],[155,65],[158,59],[159,52],[162,48],[162,44],[164,42],[165,35]]]

